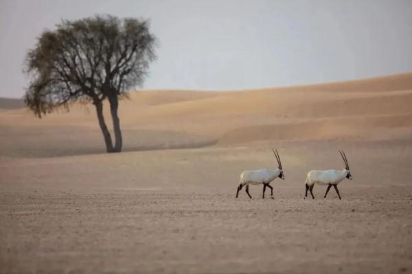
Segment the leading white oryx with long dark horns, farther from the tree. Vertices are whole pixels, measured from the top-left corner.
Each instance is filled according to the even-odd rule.
[[[352,175],[350,174],[349,164],[347,163],[347,158],[345,155],[345,151],[339,151],[341,153],[343,162],[345,162],[345,169],[341,171],[336,171],[334,169],[330,169],[329,171],[309,171],[308,176],[306,176],[306,192],[305,197],[308,197],[308,190],[310,190],[310,195],[314,199],[312,189],[314,184],[319,184],[321,186],[328,186],[326,189],[325,197],[328,195],[328,191],[330,187],[333,186],[338,193],[339,199],[341,199],[341,195],[339,195],[338,184],[345,179],[352,179]]]

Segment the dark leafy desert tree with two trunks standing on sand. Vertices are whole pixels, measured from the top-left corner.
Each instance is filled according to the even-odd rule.
[[[25,91],[27,106],[41,118],[71,103],[93,103],[107,152],[122,150],[117,109],[119,99],[141,86],[155,60],[157,39],[148,21],[115,16],[63,20],[45,30],[27,52],[24,71],[30,77]],[[103,116],[108,100],[115,145]]]

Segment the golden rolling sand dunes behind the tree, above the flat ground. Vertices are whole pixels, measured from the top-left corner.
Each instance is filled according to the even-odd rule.
[[[82,140],[83,148],[103,148],[98,145],[102,137],[92,105],[75,104],[70,112],[61,110],[36,119],[25,108],[11,109],[18,105],[15,101],[0,102],[8,108],[0,115],[5,147],[13,147],[15,140],[32,147],[30,132],[34,131],[47,136],[37,138],[39,150],[58,148],[61,143],[67,144],[65,151],[69,147],[84,150],[76,149],[80,145],[76,140]],[[260,90],[135,92],[122,100],[119,116],[126,150],[275,140],[411,140],[411,105],[412,73],[407,73]],[[111,125],[107,105],[106,121]],[[0,152],[9,155],[10,151]]]

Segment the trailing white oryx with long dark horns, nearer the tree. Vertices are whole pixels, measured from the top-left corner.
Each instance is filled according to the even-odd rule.
[[[238,198],[239,191],[242,189],[243,186],[246,185],[246,192],[250,198],[251,195],[249,194],[249,184],[263,184],[263,198],[264,192],[266,190],[266,186],[271,188],[271,198],[273,199],[273,188],[269,184],[276,179],[277,177],[281,179],[285,179],[283,169],[282,169],[282,162],[280,162],[279,153],[272,149],[273,153],[275,154],[278,169],[259,169],[258,171],[243,171],[240,174],[240,184],[238,186],[238,191],[236,192],[236,198]]]

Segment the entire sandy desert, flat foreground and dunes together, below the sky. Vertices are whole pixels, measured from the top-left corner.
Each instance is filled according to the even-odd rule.
[[[122,101],[124,152],[92,106],[0,100],[0,273],[411,273],[412,73]],[[106,122],[110,116],[106,114]],[[276,168],[274,198],[245,169]],[[354,179],[304,199],[311,169]]]

